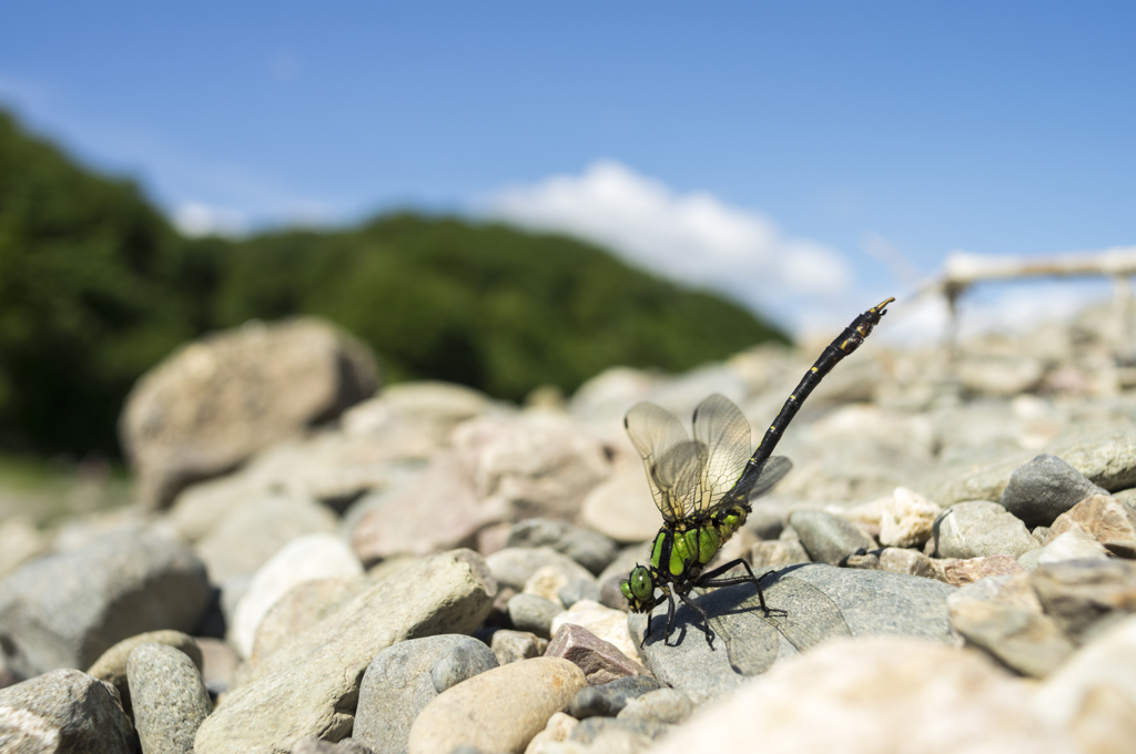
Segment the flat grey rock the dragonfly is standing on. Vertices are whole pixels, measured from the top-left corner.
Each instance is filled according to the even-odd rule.
[[[695,597],[716,632],[711,650],[701,618],[685,605],[675,614],[669,645],[662,642],[666,603],[652,614],[652,631],[641,652],[663,684],[701,705],[737,688],[746,676],[817,644],[842,636],[899,635],[957,644],[946,600],[954,589],[941,581],[886,571],[834,568],[824,563],[790,567],[761,579],[765,615],[752,585],[713,589]],[[644,617],[628,626],[641,636]],[[724,651],[725,650],[725,651]]]

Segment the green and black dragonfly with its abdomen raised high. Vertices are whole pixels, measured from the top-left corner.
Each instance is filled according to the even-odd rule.
[[[693,439],[673,413],[648,401],[636,403],[624,417],[627,435],[643,456],[651,496],[662,513],[662,527],[651,545],[648,564],[636,564],[619,589],[636,613],[650,614],[660,604],[657,589],[667,598],[665,644],[674,627],[677,596],[702,618],[702,630],[713,650],[710,618],[690,596],[694,588],[750,583],[758,589],[766,615],[785,614],[766,605],[761,584],[741,558],[709,571],[705,567],[745,525],[753,510],[751,501],[772,489],[793,468],[792,461],[772,452],[801,404],[833,367],[863,344],[893,301],[894,298],[886,299],[858,316],[825,347],[752,454],[749,420],[729,399],[717,393],[694,409]],[[727,576],[738,566],[745,569],[744,576]],[[648,618],[641,646],[650,630]]]

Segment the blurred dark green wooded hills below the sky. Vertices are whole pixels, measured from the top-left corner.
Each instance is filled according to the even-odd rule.
[[[74,167],[0,114],[0,446],[114,453],[126,392],[178,343],[296,313],[370,343],[387,380],[510,400],[783,337],[600,249],[502,225],[404,213],[187,241],[133,185]]]

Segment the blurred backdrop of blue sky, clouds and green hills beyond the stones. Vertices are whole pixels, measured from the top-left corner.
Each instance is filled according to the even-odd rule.
[[[6,3],[0,478],[115,477],[139,376],[249,319],[319,315],[386,383],[518,402],[888,295],[880,337],[934,343],[951,253],[1136,244],[1134,27],[1121,2]],[[1113,285],[975,286],[958,329]]]

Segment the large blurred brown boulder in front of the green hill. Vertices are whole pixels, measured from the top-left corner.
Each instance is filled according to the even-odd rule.
[[[268,368],[270,366],[270,368]],[[366,345],[311,318],[207,335],[148,371],[126,399],[123,447],[150,508],[375,392]]]

